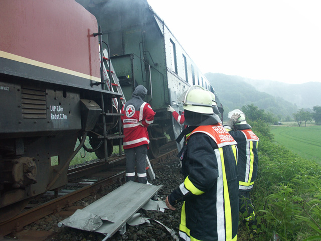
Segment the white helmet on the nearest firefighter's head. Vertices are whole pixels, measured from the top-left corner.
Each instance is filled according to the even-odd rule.
[[[212,97],[202,86],[194,85],[185,95],[183,108],[197,113],[213,114]]]

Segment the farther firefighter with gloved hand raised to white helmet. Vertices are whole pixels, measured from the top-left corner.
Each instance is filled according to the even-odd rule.
[[[228,113],[229,119],[224,128],[237,142],[237,168],[239,173],[239,207],[244,221],[255,224],[255,212],[250,198],[257,174],[259,138],[251,131],[245,114],[234,109]]]

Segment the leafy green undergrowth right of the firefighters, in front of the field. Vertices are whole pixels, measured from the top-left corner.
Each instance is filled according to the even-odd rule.
[[[258,175],[251,193],[257,213],[255,240],[321,240],[321,168],[274,144],[264,123],[253,122],[260,138]],[[246,239],[239,239],[246,240]]]

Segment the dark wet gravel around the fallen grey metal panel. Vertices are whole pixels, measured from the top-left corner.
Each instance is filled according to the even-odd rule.
[[[162,168],[154,167],[154,172],[156,179],[153,181],[148,180],[152,185],[163,185],[161,190],[158,191],[158,198],[165,200],[167,195],[171,193],[179,184],[183,182],[183,176],[180,173],[180,163],[177,158],[169,164],[162,164]],[[169,161],[169,160],[167,160]],[[148,177],[149,178],[149,177]],[[74,205],[76,206],[87,206],[100,197],[111,192],[115,188],[119,187],[120,184],[114,184],[112,187],[104,190],[103,193],[98,193],[95,196],[90,196],[83,198]],[[108,205],[106,204],[106,208]],[[177,210],[172,211],[170,209],[165,209],[165,212],[157,211],[147,211],[140,209],[138,212],[141,217],[154,219],[161,222],[170,229],[173,229],[176,234],[178,234],[180,218],[181,218],[181,208],[182,205],[177,206]],[[81,240],[81,241],[95,241],[102,240],[105,235],[97,232],[83,231],[70,227],[58,227],[58,223],[64,220],[65,217],[61,217],[58,213],[46,216],[28,226],[25,229],[32,230],[46,230],[52,231],[54,234],[46,239],[49,240]],[[150,223],[144,223],[137,226],[130,226],[126,224],[126,232],[121,235],[116,232],[113,236],[108,238],[108,240],[134,240],[134,241],[157,241],[157,240],[175,240],[171,233],[161,224],[154,220],[150,220]]]

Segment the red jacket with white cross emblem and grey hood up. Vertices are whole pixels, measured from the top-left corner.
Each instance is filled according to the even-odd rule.
[[[138,85],[137,88],[139,86],[142,85]],[[132,98],[121,109],[121,113],[124,114],[121,116],[125,136],[124,149],[149,144],[147,127],[153,123],[155,112],[142,100],[144,95],[141,92],[144,89],[137,88],[132,93]]]

